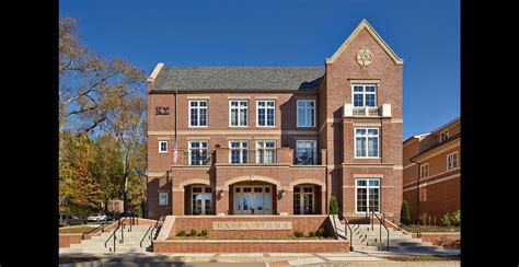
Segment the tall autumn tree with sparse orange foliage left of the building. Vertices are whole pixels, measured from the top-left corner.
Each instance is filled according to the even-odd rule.
[[[143,201],[145,84],[129,62],[91,53],[76,19],[59,19],[59,198],[74,212]]]

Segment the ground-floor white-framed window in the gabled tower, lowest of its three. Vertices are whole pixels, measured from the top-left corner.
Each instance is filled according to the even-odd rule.
[[[355,211],[357,213],[380,211],[380,179],[355,179]]]

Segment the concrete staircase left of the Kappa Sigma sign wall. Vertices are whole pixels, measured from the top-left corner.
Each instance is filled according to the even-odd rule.
[[[148,236],[142,242],[142,247],[140,247],[140,241],[149,228],[150,225],[132,225],[131,232],[128,232],[130,228],[129,225],[125,225],[123,243],[120,243],[120,229],[118,229],[116,233],[117,239],[115,241],[115,253],[146,253],[151,251],[151,240]],[[101,233],[101,235],[94,235],[90,240],[83,240],[80,244],[71,244],[70,247],[59,248],[59,253],[113,253],[113,236],[106,244],[106,247],[104,246],[104,243],[108,240],[112,233],[113,231]],[[155,231],[153,231],[153,234],[155,234]]]

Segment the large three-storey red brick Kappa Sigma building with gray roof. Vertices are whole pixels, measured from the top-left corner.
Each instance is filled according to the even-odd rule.
[[[148,216],[400,216],[402,67],[366,20],[324,67],[159,63]]]

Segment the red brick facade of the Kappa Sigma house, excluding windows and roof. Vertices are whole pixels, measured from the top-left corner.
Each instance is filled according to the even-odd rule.
[[[361,49],[369,49],[372,56],[369,65],[362,66],[357,60]],[[206,214],[234,214],[235,188],[246,185],[270,186],[272,204],[268,212],[272,214],[293,214],[296,187],[304,186],[313,190],[311,213],[326,214],[331,196],[334,195],[338,199],[341,211],[348,217],[361,217],[364,212],[356,210],[357,178],[379,179],[377,197],[380,198],[380,211],[400,216],[402,66],[402,60],[367,21],[362,21],[333,57],[326,59],[324,74],[320,78],[319,84],[311,89],[276,90],[275,85],[266,89],[268,92],[239,90],[240,88],[223,90],[217,86],[197,90],[164,89],[164,86],[159,89],[159,81],[174,79],[174,74],[168,73],[173,73],[171,71],[175,70],[158,66],[149,79],[148,90],[149,218],[157,219],[163,214],[191,214],[192,190],[197,186],[207,186],[211,190],[208,195],[210,208],[206,209]],[[377,115],[345,114],[345,105],[353,104],[354,84],[376,85],[374,107],[380,111]],[[207,101],[206,127],[189,127],[188,102],[193,100]],[[247,101],[246,127],[230,126],[230,100]],[[256,105],[261,100],[275,101],[273,127],[257,126]],[[313,127],[298,127],[299,100],[315,101]],[[381,112],[385,105],[391,112],[389,115]],[[166,115],[158,115],[157,107],[169,107],[170,112]],[[380,142],[377,147],[379,156],[376,159],[355,156],[354,132],[357,127],[372,127],[379,130]],[[207,165],[187,164],[188,142],[195,140],[207,141],[210,158]],[[249,142],[251,159],[249,163],[230,163],[231,140]],[[275,140],[274,164],[255,163],[255,153],[260,153],[256,151],[258,140]],[[296,164],[298,140],[316,142],[314,164]],[[168,141],[166,152],[159,152],[160,141]],[[172,160],[175,141],[178,149],[176,163]],[[168,204],[159,205],[160,193],[169,194]]]

